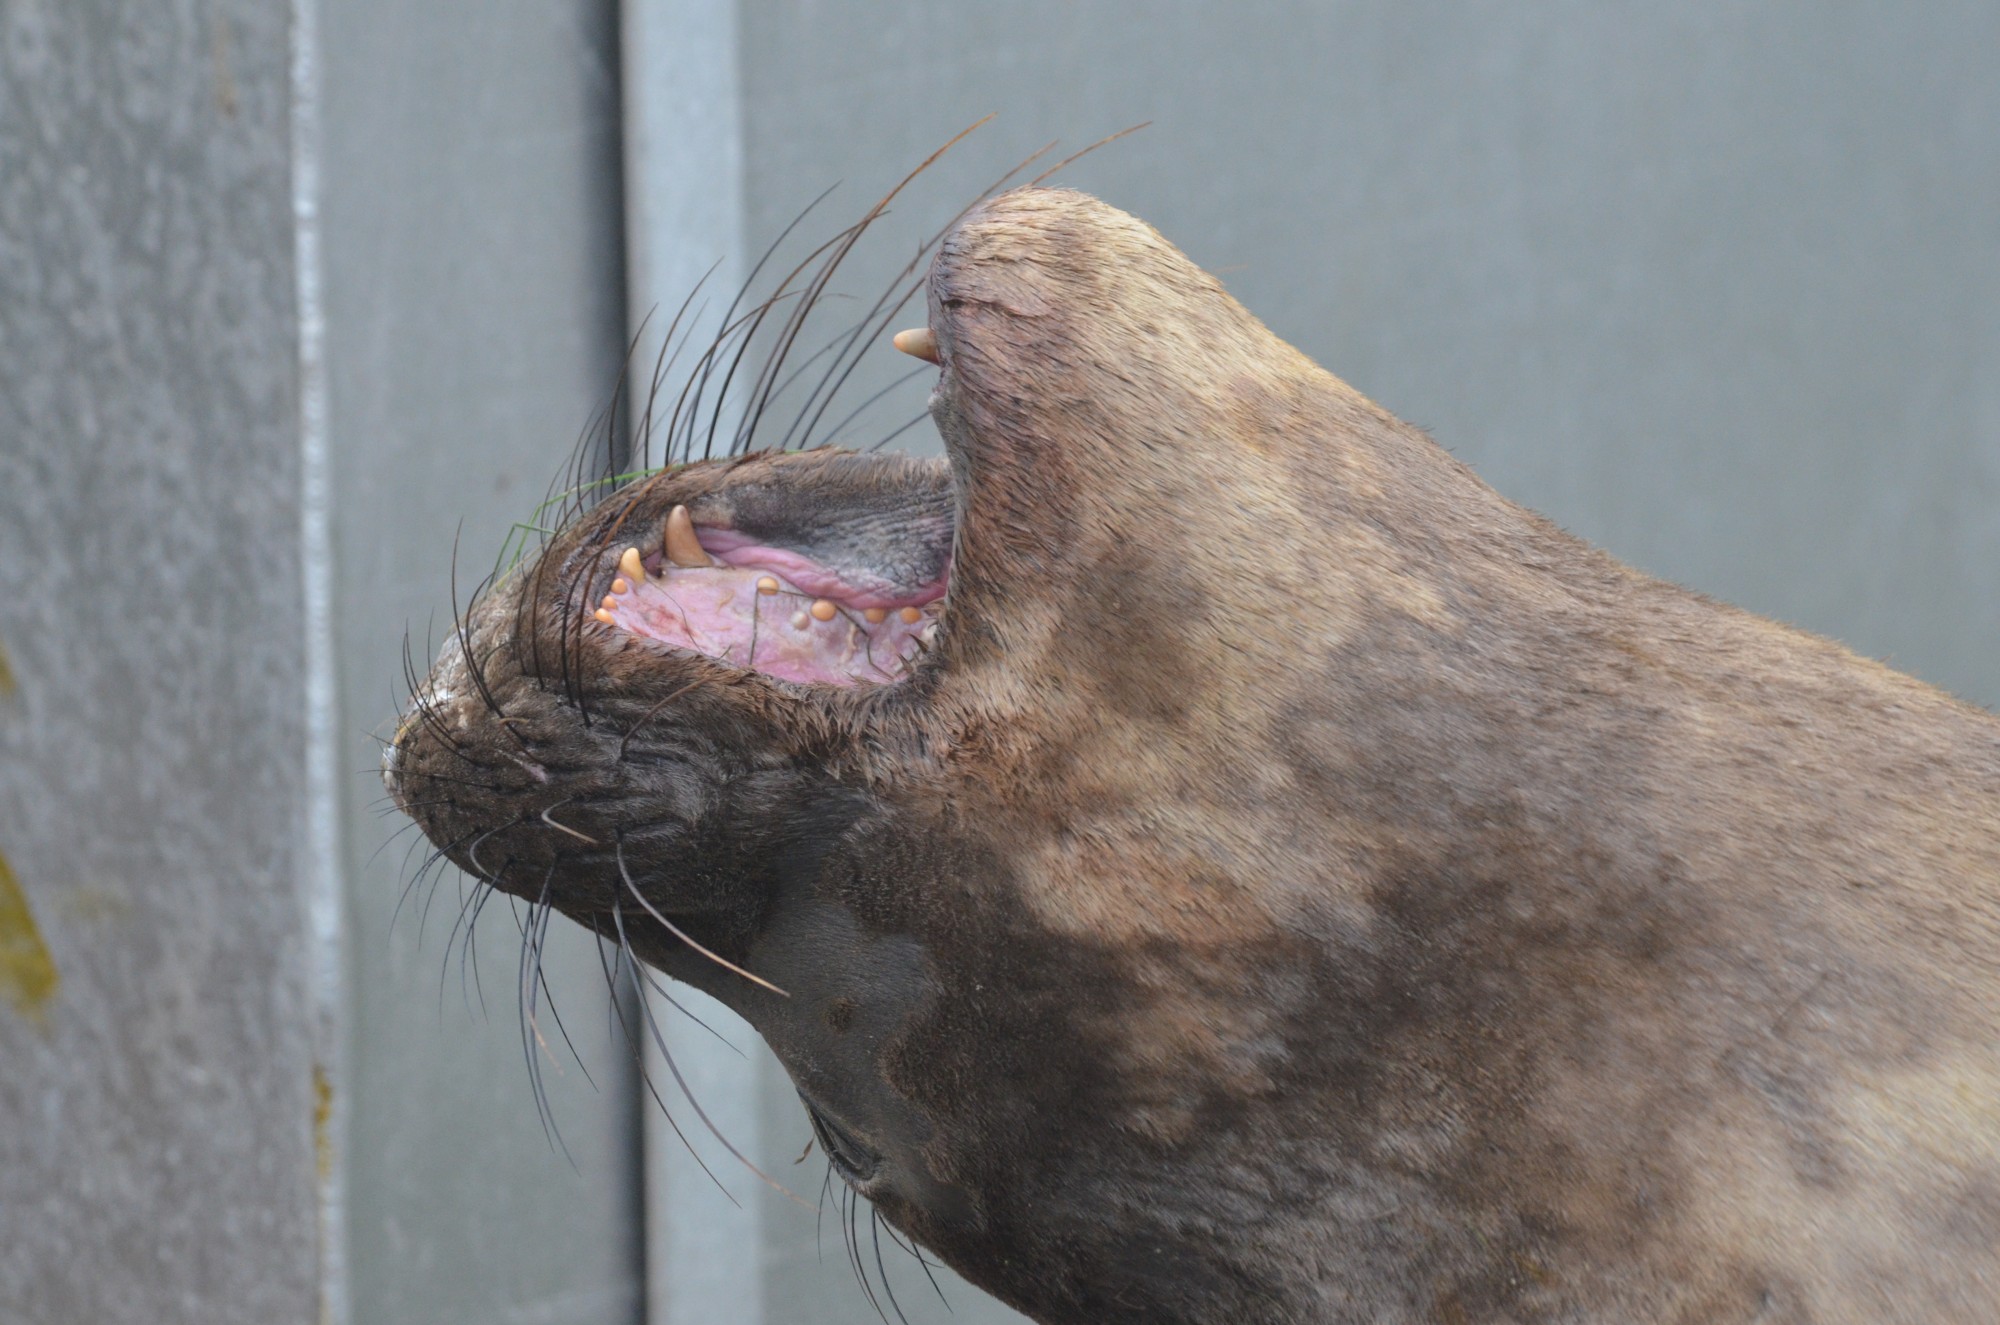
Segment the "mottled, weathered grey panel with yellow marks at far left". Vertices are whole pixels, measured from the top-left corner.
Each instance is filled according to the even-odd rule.
[[[0,1319],[318,1315],[284,6],[0,4]]]

